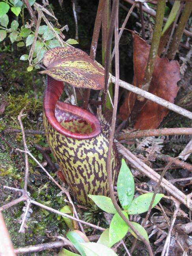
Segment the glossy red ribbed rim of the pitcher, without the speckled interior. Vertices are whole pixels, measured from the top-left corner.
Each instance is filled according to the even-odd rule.
[[[47,75],[47,86],[45,88],[43,109],[45,117],[47,118],[49,124],[51,124],[51,126],[53,126],[53,128],[60,134],[63,134],[66,137],[71,137],[73,139],[90,139],[100,134],[100,122],[94,115],[92,115],[85,109],[81,109],[80,107],[67,104],[64,102],[58,102],[63,92],[63,88],[63,82],[57,81]],[[92,132],[88,134],[80,134],[65,129],[56,119],[55,107],[57,107],[61,111],[65,111],[72,115],[77,115],[81,119],[85,120],[91,126]]]

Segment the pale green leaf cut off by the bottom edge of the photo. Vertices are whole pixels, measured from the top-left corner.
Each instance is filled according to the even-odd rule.
[[[81,243],[81,247],[85,251],[86,256],[117,256],[117,254],[105,245],[98,243]]]

